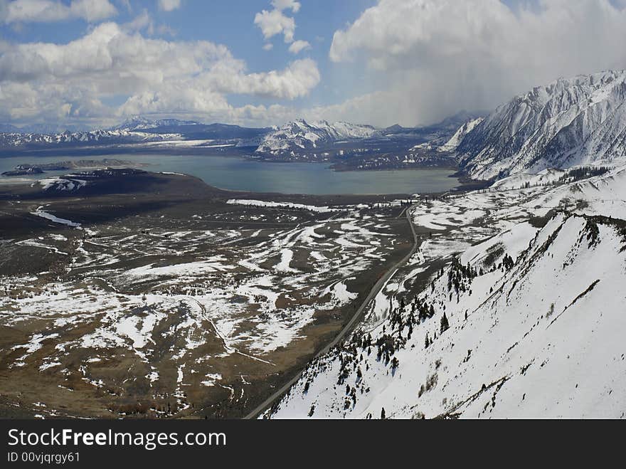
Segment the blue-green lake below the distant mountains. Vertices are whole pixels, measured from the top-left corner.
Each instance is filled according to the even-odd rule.
[[[0,158],[0,172],[17,164],[43,164],[105,157],[8,157]],[[151,172],[176,172],[196,176],[206,184],[253,192],[282,194],[427,194],[459,185],[449,169],[403,169],[389,171],[334,172],[325,163],[270,163],[242,157],[192,155],[115,154],[109,158],[144,164]],[[78,170],[77,170],[78,171]],[[67,171],[32,176],[4,177],[1,183],[20,179],[43,179]]]

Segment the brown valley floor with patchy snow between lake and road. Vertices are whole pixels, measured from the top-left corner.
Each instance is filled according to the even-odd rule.
[[[0,202],[2,415],[244,416],[413,244],[400,204],[124,177],[127,194],[79,174]]]

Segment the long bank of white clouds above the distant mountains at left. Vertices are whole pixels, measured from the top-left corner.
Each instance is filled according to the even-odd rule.
[[[250,73],[226,46],[165,41],[102,23],[67,44],[0,43],[0,120],[67,119],[102,122],[137,113],[245,115],[228,95],[275,100],[301,98],[320,80],[317,64],[295,60],[283,70]],[[118,108],[102,102],[128,96]],[[258,115],[250,111],[250,115]],[[240,118],[240,117],[237,117]]]

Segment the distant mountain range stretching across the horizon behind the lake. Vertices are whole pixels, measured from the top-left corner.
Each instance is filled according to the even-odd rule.
[[[262,158],[315,161],[377,158],[425,162],[446,155],[472,179],[567,169],[626,155],[626,71],[561,78],[484,115],[461,112],[435,125],[378,129],[349,122],[248,128],[134,116],[107,130],[24,132],[0,126],[0,148],[80,145],[232,145]],[[188,143],[185,143],[188,142]],[[367,167],[367,164],[361,165]]]

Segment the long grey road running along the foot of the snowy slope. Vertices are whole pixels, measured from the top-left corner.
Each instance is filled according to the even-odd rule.
[[[339,334],[337,334],[336,337],[329,344],[326,345],[326,347],[320,350],[317,353],[317,355],[315,355],[314,358],[318,358],[324,354],[327,354],[332,347],[336,346],[336,344],[339,344],[339,342],[341,342],[341,340],[343,340],[344,337],[346,337],[346,334],[348,334],[352,330],[356,322],[361,319],[361,316],[365,312],[371,300],[373,300],[374,297],[378,295],[378,292],[380,292],[383,289],[383,287],[385,286],[387,281],[391,278],[391,276],[394,273],[396,273],[396,271],[400,267],[405,265],[405,263],[408,262],[410,257],[413,254],[415,254],[415,251],[417,251],[418,235],[417,233],[415,233],[415,226],[413,225],[413,219],[411,219],[410,217],[411,211],[413,211],[413,207],[414,205],[410,206],[406,210],[406,219],[408,221],[408,225],[410,226],[411,233],[413,233],[413,247],[411,248],[411,250],[409,251],[407,255],[405,255],[401,260],[399,260],[389,270],[387,270],[385,275],[383,275],[381,278],[378,279],[378,282],[374,284],[373,288],[370,290],[364,302],[361,303],[361,306],[359,306],[359,308],[356,310],[356,312],[354,313],[354,316],[351,317],[351,320],[347,322],[344,328],[341,331],[339,331]],[[299,371],[299,373],[296,376],[294,376],[292,379],[290,379],[285,384],[283,384],[280,387],[280,389],[277,389],[277,391],[275,391],[274,394],[272,394],[270,397],[265,399],[265,401],[263,401],[262,404],[257,406],[256,409],[248,413],[248,415],[245,416],[245,418],[257,418],[263,411],[265,411],[265,409],[270,408],[270,406],[272,406],[272,404],[274,404],[274,402],[277,401],[277,399],[280,399],[283,396],[283,394],[285,394],[290,389],[290,387],[293,386],[295,382],[298,381],[298,379],[300,379],[300,376],[302,376],[302,371]]]

